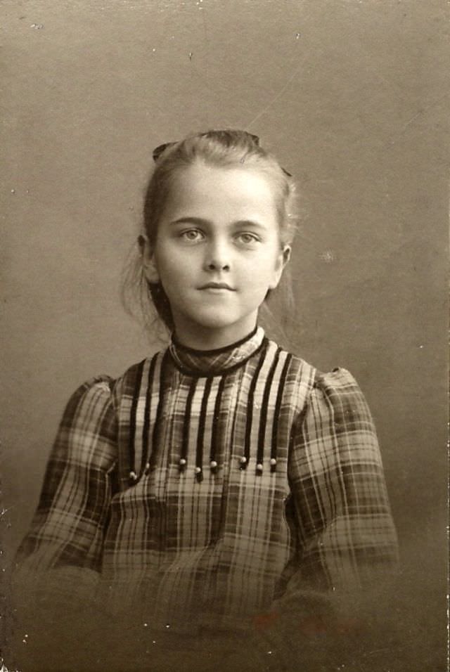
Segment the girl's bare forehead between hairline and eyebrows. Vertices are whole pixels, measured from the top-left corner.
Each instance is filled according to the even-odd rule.
[[[169,190],[165,216],[179,211],[276,219],[276,199],[269,177],[255,168],[217,167],[203,162],[176,172]]]

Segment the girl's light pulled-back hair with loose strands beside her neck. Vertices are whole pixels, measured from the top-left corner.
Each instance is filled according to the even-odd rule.
[[[280,245],[283,247],[293,240],[296,217],[295,183],[288,172],[278,163],[274,155],[259,146],[259,139],[247,131],[225,130],[192,134],[179,142],[167,143],[154,150],[155,168],[148,181],[143,205],[143,233],[150,247],[158,234],[158,222],[165,208],[174,178],[178,172],[192,164],[203,162],[212,167],[257,169],[271,181],[274,189]],[[169,299],[160,283],[149,283],[143,273],[143,236],[139,236],[139,254],[134,249],[132,259],[125,271],[122,283],[122,299],[125,307],[134,314],[136,298],[140,304],[144,323],[148,324],[153,304],[158,316],[169,331],[174,330]],[[288,288],[288,302],[292,301],[292,290]],[[134,299],[134,300],[133,300]],[[270,310],[268,311],[270,314]]]

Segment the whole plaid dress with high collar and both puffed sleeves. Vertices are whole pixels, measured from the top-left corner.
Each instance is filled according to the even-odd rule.
[[[257,328],[172,340],[68,402],[17,581],[153,628],[245,626],[397,560],[375,429],[354,377]]]

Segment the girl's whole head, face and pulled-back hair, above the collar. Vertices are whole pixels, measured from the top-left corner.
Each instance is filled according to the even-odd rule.
[[[154,157],[139,237],[144,294],[185,342],[195,325],[219,334],[205,340],[217,347],[238,340],[288,261],[293,181],[245,131],[191,135]]]

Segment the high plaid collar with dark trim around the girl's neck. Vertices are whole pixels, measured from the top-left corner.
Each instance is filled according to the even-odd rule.
[[[264,329],[255,329],[245,338],[215,350],[195,350],[182,345],[175,336],[169,344],[169,352],[176,366],[184,373],[193,375],[219,375],[245,363],[264,341]]]

